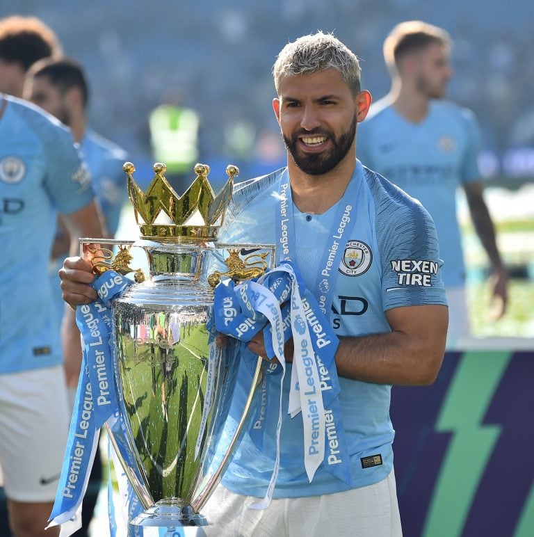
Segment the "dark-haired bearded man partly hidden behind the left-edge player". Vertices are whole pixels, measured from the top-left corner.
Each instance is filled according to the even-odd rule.
[[[89,88],[86,74],[79,63],[70,58],[44,58],[34,63],[26,73],[24,98],[37,104],[70,127],[79,152],[92,177],[92,186],[106,221],[108,237],[113,238],[119,225],[120,211],[127,198],[122,164],[127,154],[115,143],[106,140],[88,128],[87,106]],[[58,287],[58,268],[69,251],[68,232],[58,218],[57,232],[52,245],[49,273],[52,289],[56,291],[55,304],[58,326],[61,326],[65,303]],[[74,405],[81,367],[80,334],[72,310],[68,309],[62,330],[65,380]],[[102,463],[97,457],[92,466],[88,489],[83,502],[82,527],[77,537],[88,535],[97,497],[102,483]]]

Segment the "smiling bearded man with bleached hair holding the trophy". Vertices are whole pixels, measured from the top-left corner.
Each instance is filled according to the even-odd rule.
[[[359,73],[355,54],[329,34],[306,35],[282,49],[273,108],[287,167],[237,184],[220,234],[224,242],[276,243],[278,260],[291,259],[307,289],[318,302],[324,298],[339,338],[334,369],[341,387],[339,414],[327,420],[328,456],[309,481],[302,415],[286,413],[292,364],[282,387],[282,376],[266,374],[262,430],[251,427],[245,434],[202,510],[213,524],[207,534],[401,535],[391,385],[433,382],[448,310],[432,219],[356,159],[355,131],[371,104]],[[95,298],[89,270],[80,258],[65,260],[62,288],[71,305]],[[270,355],[261,332],[249,348]],[[289,352],[285,358],[291,362]],[[323,359],[317,355],[316,363]],[[245,396],[246,385],[248,378],[236,397]],[[314,405],[308,410],[314,412]],[[277,479],[271,481],[278,449]],[[266,508],[250,508],[262,497]]]

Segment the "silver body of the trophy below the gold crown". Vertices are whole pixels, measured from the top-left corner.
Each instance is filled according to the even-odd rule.
[[[112,307],[115,374],[129,445],[121,446],[108,431],[123,466],[132,458],[137,466],[129,469],[130,481],[145,512],[132,524],[204,525],[200,508],[247,421],[261,360],[248,405],[239,410],[243,419],[230,421],[239,355],[232,339],[218,348],[209,329],[213,289],[202,268],[209,249],[146,241],[141,246],[150,277],[129,287]]]

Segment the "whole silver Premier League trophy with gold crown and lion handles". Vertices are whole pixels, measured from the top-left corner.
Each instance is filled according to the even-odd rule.
[[[261,275],[273,247],[253,255],[253,262],[250,255],[240,255],[244,245],[234,245],[223,255],[231,261],[228,270],[214,270],[226,248],[216,239],[232,197],[235,166],[227,168],[229,179],[218,195],[207,179],[209,167],[202,164],[195,166],[197,177],[181,196],[165,179],[163,164],[154,165],[146,193],[133,179],[133,164],[125,163],[124,171],[141,234],[133,246],[147,253],[149,277],[142,281],[135,271],[137,283],[111,306],[122,432],[107,426],[108,433],[143,506],[132,524],[202,526],[207,520],[200,509],[246,428],[264,372],[259,358],[245,405],[239,415],[229,416],[240,358],[234,339],[216,345],[213,285],[221,274],[235,280]],[[111,250],[104,246],[85,248],[95,273],[132,271],[130,244],[121,243],[113,260],[106,258]]]

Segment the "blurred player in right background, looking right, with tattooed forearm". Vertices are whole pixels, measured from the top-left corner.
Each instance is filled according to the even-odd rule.
[[[443,99],[453,74],[448,34],[421,21],[398,24],[384,43],[389,94],[371,106],[359,131],[361,161],[418,199],[435,221],[444,259],[449,338],[469,335],[465,266],[456,216],[462,186],[492,268],[496,317],[505,312],[507,276],[483,198],[474,114]]]

